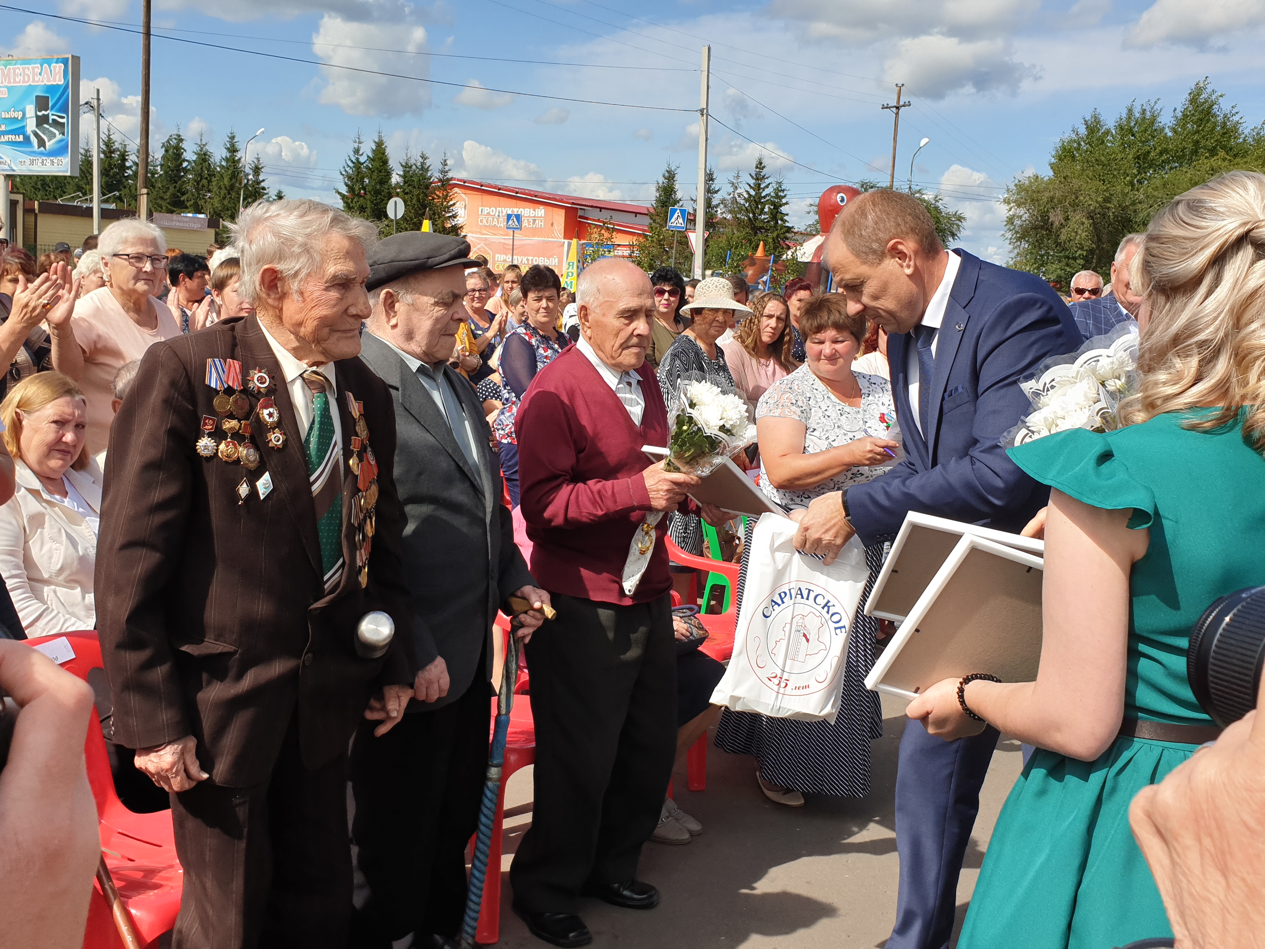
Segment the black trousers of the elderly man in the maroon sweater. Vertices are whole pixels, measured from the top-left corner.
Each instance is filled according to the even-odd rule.
[[[531,829],[510,868],[515,901],[574,912],[588,882],[636,876],[677,752],[677,650],[668,593],[615,606],[553,593],[528,644],[536,723]]]

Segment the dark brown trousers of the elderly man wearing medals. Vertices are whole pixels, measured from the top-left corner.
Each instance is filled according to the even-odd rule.
[[[352,916],[347,755],[304,767],[291,723],[269,778],[171,796],[185,893],[173,949],[343,949]]]

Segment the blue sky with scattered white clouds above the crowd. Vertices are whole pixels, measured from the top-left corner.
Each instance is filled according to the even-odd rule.
[[[0,10],[8,52],[78,54],[85,97],[100,87],[106,118],[135,139],[139,37],[51,14],[134,27],[139,0],[9,3],[34,13]],[[1092,109],[1169,109],[1209,76],[1251,124],[1265,118],[1265,0],[156,0],[153,23],[156,146],[177,125],[215,148],[262,127],[252,153],[263,149],[269,185],[323,200],[357,130],[378,129],[396,158],[447,152],[460,176],[614,200],[648,200],[672,161],[691,195],[707,42],[712,111],[729,127],[712,124],[711,163],[724,178],[763,154],[805,220],[830,185],[887,176],[879,106],[903,81],[913,106],[897,178],[930,138],[915,182],[964,210],[963,245],[999,262],[997,197],[1045,171]]]

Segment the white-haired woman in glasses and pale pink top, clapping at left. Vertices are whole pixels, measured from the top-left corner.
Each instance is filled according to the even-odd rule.
[[[105,286],[80,297],[70,333],[53,338],[53,368],[78,382],[87,402],[87,450],[100,454],[114,421],[114,376],[154,343],[181,335],[154,291],[167,278],[167,237],[147,221],[116,220],[97,243]]]

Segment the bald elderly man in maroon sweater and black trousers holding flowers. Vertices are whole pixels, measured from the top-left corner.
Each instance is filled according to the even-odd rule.
[[[653,371],[654,294],[627,261],[588,267],[581,338],[541,369],[519,407],[519,478],[531,573],[558,617],[528,645],[536,724],[535,805],[510,878],[528,927],[560,946],[592,941],[577,897],[649,910],[636,879],[672,776],[677,659],[665,511],[697,510],[696,478],[646,467],[668,444]],[[703,516],[725,515],[705,507]]]

